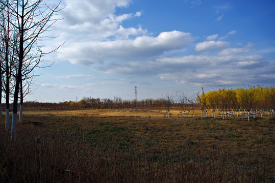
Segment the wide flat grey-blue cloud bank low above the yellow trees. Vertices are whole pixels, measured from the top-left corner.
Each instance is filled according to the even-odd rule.
[[[189,55],[178,58],[161,58],[157,69],[167,68],[159,74],[162,80],[190,83],[193,86],[242,84],[266,73],[268,62],[260,55]],[[263,64],[265,63],[265,64]],[[257,68],[257,69],[255,69]],[[253,72],[252,72],[253,70]]]

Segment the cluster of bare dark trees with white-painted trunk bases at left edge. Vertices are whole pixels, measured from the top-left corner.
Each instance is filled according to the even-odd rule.
[[[9,99],[13,97],[12,141],[16,141],[18,97],[22,111],[23,97],[30,92],[35,68],[44,55],[55,51],[42,52],[40,41],[59,20],[55,18],[59,4],[48,6],[42,0],[0,1],[1,74],[5,79],[2,86],[6,94],[6,131],[9,130]],[[19,118],[22,121],[22,112]]]

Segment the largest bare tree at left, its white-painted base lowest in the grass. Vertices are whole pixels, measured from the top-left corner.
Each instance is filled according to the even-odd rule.
[[[14,31],[18,34],[16,43],[15,63],[15,89],[13,98],[13,114],[12,114],[12,140],[16,141],[16,116],[17,103],[20,83],[22,75],[28,75],[39,66],[41,57],[50,52],[42,52],[42,45],[39,42],[45,38],[44,33],[51,31],[50,27],[58,20],[55,15],[60,9],[57,5],[46,5],[43,0],[17,0],[8,2],[6,7],[14,21],[10,21],[14,27]]]

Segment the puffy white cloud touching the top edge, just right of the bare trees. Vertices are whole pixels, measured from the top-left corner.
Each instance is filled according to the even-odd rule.
[[[145,34],[141,26],[126,28],[121,25],[125,20],[138,18],[141,11],[117,15],[117,7],[127,7],[131,0],[65,0],[66,8],[60,12],[62,21],[53,27],[61,31],[61,39],[69,41],[100,41],[109,37],[124,37]],[[119,29],[119,30],[118,30]],[[135,30],[136,29],[136,30]],[[122,31],[121,31],[122,30]],[[68,41],[69,40],[69,41]]]

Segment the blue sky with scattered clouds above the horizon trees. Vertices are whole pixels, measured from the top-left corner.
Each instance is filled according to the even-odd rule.
[[[57,0],[45,1],[56,4]],[[63,0],[25,101],[275,85],[275,1]],[[51,67],[43,68],[43,66]]]

